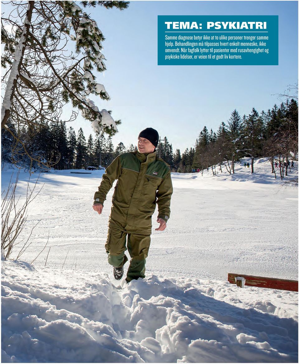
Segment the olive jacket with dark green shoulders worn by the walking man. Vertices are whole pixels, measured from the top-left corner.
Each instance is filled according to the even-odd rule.
[[[128,233],[151,233],[151,217],[158,203],[158,217],[170,217],[172,183],[170,168],[163,159],[138,151],[124,153],[114,159],[105,174],[95,203],[106,199],[115,179],[109,224]]]

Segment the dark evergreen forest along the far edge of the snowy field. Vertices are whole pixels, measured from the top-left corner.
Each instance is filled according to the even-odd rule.
[[[14,125],[9,123],[11,130]],[[125,141],[113,145],[113,137],[104,133],[86,137],[82,128],[75,131],[67,128],[65,122],[52,121],[39,128],[27,127],[20,135],[23,145],[16,143],[11,134],[1,134],[2,165],[14,163],[17,166],[39,169],[40,163],[33,162],[28,154],[43,163],[51,163],[55,169],[82,169],[88,166],[107,167],[117,155],[137,149],[126,145]],[[27,152],[24,150],[26,146]],[[216,166],[234,173],[235,162],[242,157],[268,157],[274,169],[275,161],[297,160],[298,149],[298,103],[287,99],[272,110],[258,112],[255,108],[249,115],[231,112],[227,122],[222,122],[218,130],[204,126],[199,131],[194,146],[184,151],[174,151],[167,136],[158,145],[157,153],[166,161],[173,172],[190,173],[192,169],[203,171]],[[224,163],[223,163],[224,162]],[[227,162],[227,163],[225,163]],[[282,170],[283,174],[283,170]]]

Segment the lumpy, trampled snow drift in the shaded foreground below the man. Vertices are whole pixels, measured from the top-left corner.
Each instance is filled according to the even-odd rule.
[[[2,362],[298,361],[295,292],[2,266]]]

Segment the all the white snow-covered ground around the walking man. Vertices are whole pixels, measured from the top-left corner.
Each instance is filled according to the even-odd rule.
[[[298,362],[298,293],[226,281],[298,279],[298,189],[275,181],[266,159],[254,175],[244,161],[235,175],[172,174],[167,229],[153,230],[147,278],[128,285],[104,250],[113,191],[102,215],[92,210],[103,171],[41,174],[32,243],[22,261],[2,261],[1,361]]]

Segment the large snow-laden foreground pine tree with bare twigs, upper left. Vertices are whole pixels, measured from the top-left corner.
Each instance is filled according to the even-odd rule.
[[[101,53],[104,36],[96,21],[75,1],[9,1],[8,4],[9,15],[1,18],[4,43],[1,66],[6,71],[2,80],[6,91],[1,129],[5,128],[16,141],[23,143],[19,128],[29,126],[33,131],[45,120],[59,120],[63,106],[71,102],[95,130],[115,134],[120,120],[114,121],[110,112],[100,111],[89,99],[92,94],[109,99],[104,85],[97,83],[93,74],[93,70],[106,70]],[[120,10],[128,7],[126,1],[81,1],[80,4]],[[75,41],[75,53],[69,47],[72,41]],[[15,133],[7,124],[8,118]],[[75,118],[73,111],[71,119]],[[27,153],[25,144],[23,148]],[[33,158],[29,154],[28,157]]]

